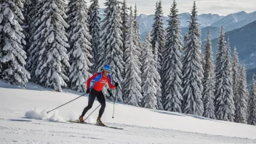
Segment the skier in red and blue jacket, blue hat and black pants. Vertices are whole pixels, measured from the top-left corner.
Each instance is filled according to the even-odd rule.
[[[119,86],[119,84],[116,82],[115,85],[113,85],[111,74],[111,66],[110,65],[104,65],[103,71],[99,73],[95,73],[92,77],[87,79],[87,92],[86,94],[89,94],[89,100],[87,107],[84,108],[84,111],[81,113],[81,116],[79,116],[79,121],[84,122],[84,115],[87,113],[89,109],[92,108],[92,105],[95,101],[95,97],[97,97],[98,102],[100,103],[100,111],[99,116],[97,117],[96,124],[105,125],[100,120],[101,116],[103,116],[104,110],[105,110],[105,96],[103,95],[103,87],[108,82],[108,86],[111,89],[114,89]],[[92,82],[92,84],[91,84]]]

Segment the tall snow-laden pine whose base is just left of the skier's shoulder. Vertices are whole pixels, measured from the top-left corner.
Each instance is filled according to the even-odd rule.
[[[89,67],[92,65],[90,55],[92,48],[89,41],[89,16],[85,0],[71,0],[68,4],[68,52],[70,88],[77,92],[86,92],[86,81],[92,76]]]

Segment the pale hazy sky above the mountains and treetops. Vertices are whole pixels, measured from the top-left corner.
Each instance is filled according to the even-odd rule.
[[[123,1],[123,0],[119,0]],[[156,1],[159,0],[127,0],[130,7],[137,4],[138,14],[153,15],[156,9]],[[176,0],[179,13],[191,12],[194,0]],[[99,0],[100,8],[104,8],[105,0]],[[161,0],[164,15],[169,15],[172,0]],[[212,13],[219,15],[228,15],[234,12],[254,12],[256,11],[256,0],[196,0],[196,6],[199,14]]]

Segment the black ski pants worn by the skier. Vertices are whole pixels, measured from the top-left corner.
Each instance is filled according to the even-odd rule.
[[[84,108],[83,113],[81,113],[81,116],[84,116],[85,113],[87,113],[87,111],[89,109],[92,108],[93,103],[95,102],[95,97],[97,97],[97,101],[100,103],[101,108],[100,108],[100,112],[99,112],[99,118],[101,118],[101,116],[103,116],[104,110],[105,110],[105,96],[103,95],[103,92],[100,91],[98,92],[95,89],[92,89],[89,92],[89,100],[88,100],[88,105],[87,107]]]

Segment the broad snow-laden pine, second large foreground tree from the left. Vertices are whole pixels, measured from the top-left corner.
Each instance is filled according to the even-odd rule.
[[[63,18],[65,15],[65,1],[63,0],[44,0],[44,6],[41,7],[41,23],[37,28],[36,38],[41,38],[38,55],[38,64],[36,67],[37,82],[44,87],[50,87],[58,92],[61,87],[67,87],[65,81],[68,76],[64,74],[64,68],[69,67],[67,48],[67,33],[65,28],[68,24]],[[41,33],[39,33],[41,31]]]

